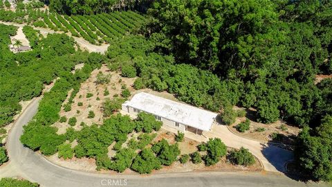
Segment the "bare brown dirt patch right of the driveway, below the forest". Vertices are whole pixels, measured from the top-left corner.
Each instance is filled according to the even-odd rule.
[[[234,109],[240,109],[239,107],[234,107]],[[230,131],[234,132],[234,134],[238,134],[239,136],[245,136],[250,139],[256,139],[258,141],[273,141],[272,134],[282,134],[283,141],[282,143],[293,145],[295,136],[299,134],[299,128],[288,125],[282,121],[277,121],[275,123],[270,124],[264,124],[264,123],[258,123],[254,121],[254,117],[252,114],[255,113],[255,109],[250,109],[247,113],[247,117],[250,120],[250,130],[247,130],[246,132],[238,132],[236,129],[236,126],[239,125],[239,123],[246,121],[246,117],[243,118],[237,118],[235,123],[228,126],[228,129]],[[262,132],[259,132],[259,129],[263,130]]]

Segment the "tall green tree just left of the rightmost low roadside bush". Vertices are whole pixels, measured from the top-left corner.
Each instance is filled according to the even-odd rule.
[[[220,157],[226,155],[227,147],[221,139],[209,139],[205,144],[207,147],[207,154],[203,157],[206,166],[212,166],[220,160]]]

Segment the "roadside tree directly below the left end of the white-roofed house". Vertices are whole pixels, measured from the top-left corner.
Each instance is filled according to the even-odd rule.
[[[111,169],[117,172],[124,172],[124,170],[131,166],[135,157],[136,153],[133,150],[129,148],[120,149],[113,158]]]

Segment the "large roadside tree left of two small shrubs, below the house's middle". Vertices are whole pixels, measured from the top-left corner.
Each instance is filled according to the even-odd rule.
[[[152,150],[156,153],[160,163],[165,166],[170,166],[174,161],[177,160],[180,150],[178,144],[169,145],[165,139],[162,139],[158,143],[152,146]]]

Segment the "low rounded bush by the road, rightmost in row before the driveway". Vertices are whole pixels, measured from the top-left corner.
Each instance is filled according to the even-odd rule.
[[[228,155],[228,159],[237,165],[251,166],[255,163],[255,157],[248,151],[248,149],[240,148],[240,150],[232,150]]]

